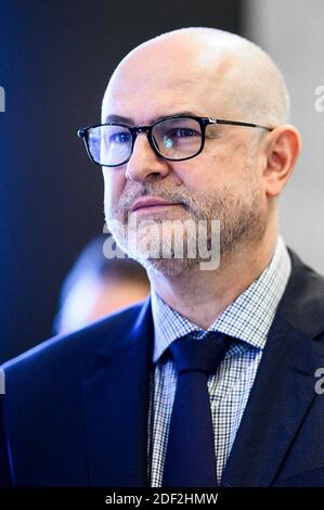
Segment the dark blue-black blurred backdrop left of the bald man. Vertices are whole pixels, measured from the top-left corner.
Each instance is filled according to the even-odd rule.
[[[114,67],[160,33],[241,34],[241,18],[238,0],[0,1],[0,362],[51,335],[62,280],[102,232],[101,171],[76,132]]]

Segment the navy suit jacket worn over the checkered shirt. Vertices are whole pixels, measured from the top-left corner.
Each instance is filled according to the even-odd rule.
[[[290,256],[222,486],[324,486],[324,278]],[[153,332],[147,298],[4,365],[3,485],[147,486]]]

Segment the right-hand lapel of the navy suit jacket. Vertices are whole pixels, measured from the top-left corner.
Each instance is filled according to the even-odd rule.
[[[270,486],[315,397],[324,346],[280,315],[226,463],[222,486]]]

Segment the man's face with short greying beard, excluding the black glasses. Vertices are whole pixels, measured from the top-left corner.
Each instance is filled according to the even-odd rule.
[[[246,120],[226,99],[231,98],[225,76],[229,65],[221,60],[217,74],[215,68],[206,67],[192,49],[174,49],[174,44],[172,48],[168,43],[142,49],[114,74],[103,102],[102,122],[115,115],[129,125],[147,125],[160,116],[184,112]],[[106,222],[120,247],[148,269],[176,275],[196,266],[199,256],[147,258],[143,246],[156,237],[156,230],[147,229],[148,220],[160,228],[168,227],[166,220],[193,220],[195,224],[218,220],[221,255],[233,252],[242,243],[260,240],[265,222],[255,155],[256,133],[251,131],[244,127],[209,126],[204,151],[183,162],[158,157],[145,133],[138,135],[127,164],[103,168]],[[132,211],[134,202],[142,196],[159,197],[168,205]],[[146,243],[141,244],[142,248],[138,244],[135,251],[130,248],[130,231],[126,230],[130,218],[137,220],[138,239]],[[163,235],[159,242],[161,254]]]

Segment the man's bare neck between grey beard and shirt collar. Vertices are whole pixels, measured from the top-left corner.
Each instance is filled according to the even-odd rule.
[[[239,245],[229,256],[221,256],[216,270],[193,267],[174,277],[148,271],[152,289],[174,310],[207,330],[270,264],[277,230],[265,231],[256,246]]]

